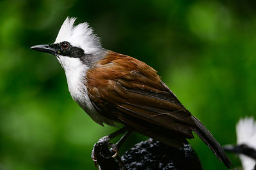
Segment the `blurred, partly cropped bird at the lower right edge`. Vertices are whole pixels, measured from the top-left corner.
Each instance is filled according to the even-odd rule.
[[[256,169],[256,121],[252,117],[241,118],[236,124],[236,145],[225,145],[227,152],[239,155],[244,170]]]

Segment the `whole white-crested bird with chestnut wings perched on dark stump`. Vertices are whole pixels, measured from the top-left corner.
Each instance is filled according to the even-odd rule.
[[[70,95],[100,125],[123,124],[101,140],[124,136],[112,145],[116,153],[138,132],[175,148],[184,147],[195,132],[228,168],[232,163],[211,132],[191,115],[157,71],[138,59],[102,47],[87,22],[74,25],[67,17],[54,43],[31,49],[54,55],[67,77]]]

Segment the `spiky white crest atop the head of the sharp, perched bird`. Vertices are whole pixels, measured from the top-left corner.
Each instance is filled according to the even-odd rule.
[[[101,45],[99,38],[93,34],[93,29],[86,22],[74,25],[75,21],[76,18],[66,18],[54,43],[68,41],[72,46],[83,48],[86,53],[97,52]]]

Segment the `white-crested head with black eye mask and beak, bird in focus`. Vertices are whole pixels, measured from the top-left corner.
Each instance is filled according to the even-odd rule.
[[[91,67],[105,50],[86,22],[74,25],[75,21],[76,18],[67,17],[54,43],[31,46],[31,49],[53,54],[65,70],[81,65]]]

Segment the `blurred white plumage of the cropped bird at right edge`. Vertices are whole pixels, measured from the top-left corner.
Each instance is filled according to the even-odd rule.
[[[256,122],[253,118],[239,120],[236,125],[237,144],[246,144],[256,149]],[[246,155],[239,155],[243,169],[253,169],[255,160]]]

